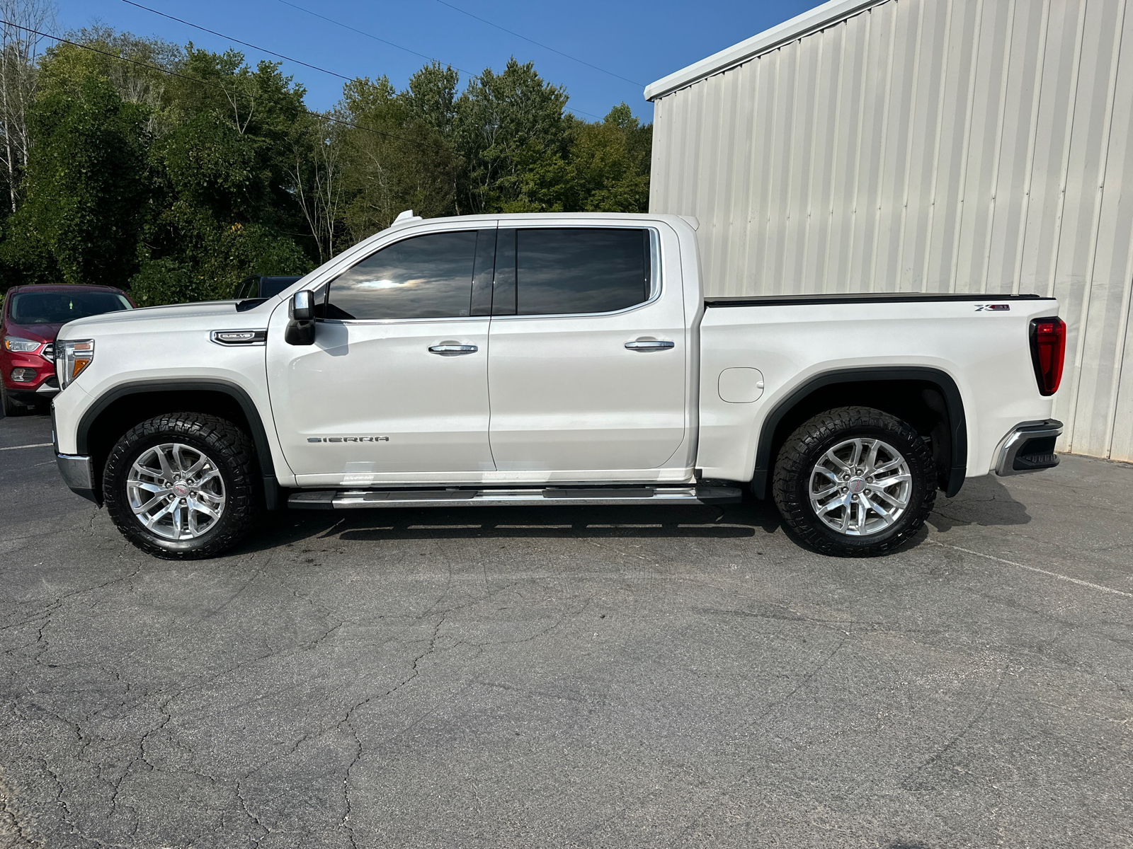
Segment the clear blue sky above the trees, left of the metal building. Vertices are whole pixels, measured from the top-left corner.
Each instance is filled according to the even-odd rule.
[[[544,79],[564,86],[570,95],[568,105],[579,117],[594,120],[625,101],[646,121],[653,120],[653,106],[641,95],[646,84],[818,5],[818,0],[574,0],[571,3],[446,0],[449,5],[441,0],[137,2],[347,77],[385,74],[398,88],[403,87],[409,75],[426,61],[424,58],[335,26],[296,7],[474,74],[486,67],[501,70],[508,58],[514,55],[523,62],[534,60]],[[191,40],[197,46],[218,52],[237,48],[253,63],[273,58],[122,0],[57,0],[57,5],[60,34],[97,20],[117,29],[156,35],[180,44]],[[603,70],[502,32],[458,9]],[[287,61],[283,70],[306,86],[310,109],[330,108],[342,92],[343,80],[337,77]],[[461,75],[461,85],[466,77],[467,74]]]

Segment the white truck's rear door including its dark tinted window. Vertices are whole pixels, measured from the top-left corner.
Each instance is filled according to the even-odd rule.
[[[685,319],[680,281],[666,291],[658,259],[648,226],[499,230],[488,358],[499,471],[610,479],[674,457]]]

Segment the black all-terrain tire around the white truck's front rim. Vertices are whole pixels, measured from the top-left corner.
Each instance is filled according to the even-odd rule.
[[[213,526],[193,539],[169,539],[147,529],[130,506],[128,478],[135,462],[155,446],[178,444],[206,456],[223,482],[224,505]],[[102,495],[114,525],[143,551],[163,559],[215,557],[252,528],[261,507],[252,439],[230,421],[205,413],[157,415],[122,435],[107,458]]]

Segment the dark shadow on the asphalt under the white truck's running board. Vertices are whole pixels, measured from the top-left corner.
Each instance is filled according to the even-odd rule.
[[[746,496],[742,504],[688,507],[432,507],[340,512],[280,511],[240,550],[301,539],[742,539],[778,531],[775,505]]]

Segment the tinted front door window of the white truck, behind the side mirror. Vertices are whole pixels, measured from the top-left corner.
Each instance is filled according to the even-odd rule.
[[[326,316],[467,316],[475,260],[476,231],[429,233],[395,242],[331,281]]]

